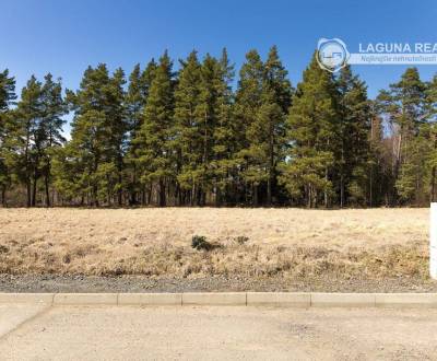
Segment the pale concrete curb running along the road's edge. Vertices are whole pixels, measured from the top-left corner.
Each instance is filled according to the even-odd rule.
[[[233,305],[406,308],[437,307],[437,293],[0,293],[0,304],[2,303],[38,303],[47,305]]]

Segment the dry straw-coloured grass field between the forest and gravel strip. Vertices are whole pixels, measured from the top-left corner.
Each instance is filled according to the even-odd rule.
[[[426,277],[427,234],[428,209],[0,209],[0,272]]]

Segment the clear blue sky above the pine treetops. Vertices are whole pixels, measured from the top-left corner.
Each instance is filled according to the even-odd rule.
[[[0,69],[10,69],[17,89],[32,73],[49,71],[76,89],[88,65],[129,73],[164,49],[178,59],[193,48],[220,55],[226,46],[238,69],[247,50],[264,56],[273,44],[295,85],[320,37],[339,37],[351,53],[359,43],[437,43],[435,0],[2,0],[0,9]],[[437,72],[436,66],[418,68],[425,80]],[[354,70],[375,96],[405,67]]]

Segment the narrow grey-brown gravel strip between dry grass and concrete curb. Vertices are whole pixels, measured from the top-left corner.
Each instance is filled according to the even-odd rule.
[[[437,281],[416,278],[285,279],[285,278],[149,278],[57,275],[0,275],[0,292],[437,292]]]

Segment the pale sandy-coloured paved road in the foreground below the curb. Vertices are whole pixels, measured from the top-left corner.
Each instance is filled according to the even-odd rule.
[[[1,360],[437,360],[437,310],[0,305]]]

